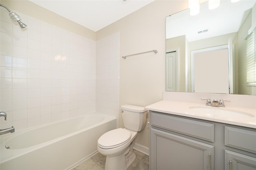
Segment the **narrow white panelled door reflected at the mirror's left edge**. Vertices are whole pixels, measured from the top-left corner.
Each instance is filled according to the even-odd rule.
[[[166,91],[178,91],[178,50],[166,51]]]

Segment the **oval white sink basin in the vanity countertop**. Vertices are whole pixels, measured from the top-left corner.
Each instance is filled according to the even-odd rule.
[[[232,109],[226,109],[223,107],[211,107],[211,106],[191,106],[189,107],[195,114],[206,115],[209,117],[254,117],[254,115],[242,111],[236,111]]]

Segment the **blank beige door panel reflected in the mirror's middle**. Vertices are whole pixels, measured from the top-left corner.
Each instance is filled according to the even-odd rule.
[[[192,92],[229,94],[228,47],[191,51]]]

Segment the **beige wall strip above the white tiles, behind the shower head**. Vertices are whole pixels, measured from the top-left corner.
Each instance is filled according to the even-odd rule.
[[[10,8],[10,10],[18,11],[23,14],[33,16],[38,20],[42,20],[54,26],[64,28],[67,31],[73,32],[75,34],[79,34],[91,40],[96,40],[96,33],[94,31],[88,28],[85,28],[79,24],[76,24],[75,22],[72,22],[53,12],[50,12],[49,10],[46,10],[28,0],[1,0],[1,4],[7,6],[8,8]],[[2,8],[1,10],[5,10],[5,9]],[[24,24],[28,25],[25,22]]]

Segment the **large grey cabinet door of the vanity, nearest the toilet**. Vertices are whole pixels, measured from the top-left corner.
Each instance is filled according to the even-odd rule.
[[[150,170],[213,170],[214,146],[150,129]]]

